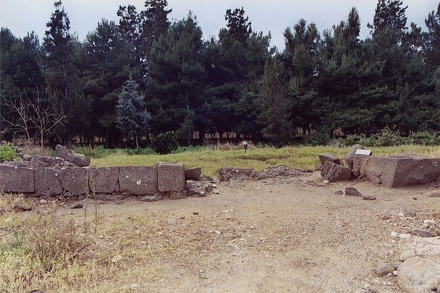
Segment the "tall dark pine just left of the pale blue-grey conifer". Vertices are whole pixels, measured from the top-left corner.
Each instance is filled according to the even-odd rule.
[[[104,133],[106,148],[116,143],[115,105],[124,82],[129,78],[134,56],[132,46],[126,43],[113,21],[102,19],[94,32],[86,36],[84,93],[93,100],[89,136],[100,137]],[[111,141],[113,139],[113,141]]]

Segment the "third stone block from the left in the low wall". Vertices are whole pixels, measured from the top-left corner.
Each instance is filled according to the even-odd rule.
[[[59,177],[61,186],[69,195],[81,196],[89,193],[87,169],[79,167],[61,169]]]

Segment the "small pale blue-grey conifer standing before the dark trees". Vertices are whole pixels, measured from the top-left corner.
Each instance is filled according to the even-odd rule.
[[[151,115],[146,111],[144,95],[137,91],[137,83],[131,76],[118,96],[116,115],[117,127],[126,136],[134,138],[136,148],[139,148],[139,140],[148,132]]]

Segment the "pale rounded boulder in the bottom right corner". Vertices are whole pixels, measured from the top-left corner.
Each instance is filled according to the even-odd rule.
[[[397,283],[404,292],[428,293],[440,290],[440,259],[412,257],[401,263]]]

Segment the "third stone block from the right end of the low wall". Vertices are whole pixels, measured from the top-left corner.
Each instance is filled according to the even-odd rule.
[[[120,167],[90,167],[89,189],[96,194],[112,194],[118,190]]]

